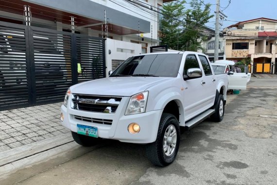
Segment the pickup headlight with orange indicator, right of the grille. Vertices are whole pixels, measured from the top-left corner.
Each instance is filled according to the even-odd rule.
[[[145,112],[148,91],[131,96],[125,115]]]

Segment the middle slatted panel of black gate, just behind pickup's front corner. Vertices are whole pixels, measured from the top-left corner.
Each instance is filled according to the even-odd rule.
[[[72,85],[71,34],[31,27],[35,104],[61,101]]]

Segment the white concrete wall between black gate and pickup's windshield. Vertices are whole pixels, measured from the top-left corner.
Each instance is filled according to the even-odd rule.
[[[112,70],[112,60],[126,60],[131,56],[139,55],[141,53],[141,44],[107,38],[105,41],[105,49],[106,74],[108,74],[108,71]]]

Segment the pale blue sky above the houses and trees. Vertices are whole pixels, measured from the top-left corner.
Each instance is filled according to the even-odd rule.
[[[214,11],[216,10],[216,0],[202,0],[205,4],[212,4],[211,14],[215,15]],[[187,0],[190,2],[190,0]],[[229,0],[220,0],[220,8],[223,10],[229,3]],[[187,8],[188,4],[185,4]],[[203,6],[204,7],[204,6]],[[223,23],[220,30],[228,27],[232,24],[237,23],[238,21],[244,21],[249,19],[256,18],[269,18],[277,19],[277,0],[231,0],[229,6],[223,11],[227,16],[227,20],[234,21],[220,21]],[[206,26],[214,28],[215,27],[215,16],[209,20],[210,22]],[[214,22],[213,22],[214,21]]]

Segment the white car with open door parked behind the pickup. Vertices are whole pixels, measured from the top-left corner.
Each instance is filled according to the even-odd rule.
[[[231,60],[216,60],[211,65],[215,74],[231,74],[228,75],[228,90],[246,90],[246,84],[251,78],[251,73],[248,73],[247,66],[238,66],[244,68],[245,72],[237,73],[235,62]]]

